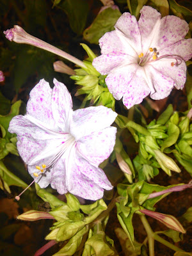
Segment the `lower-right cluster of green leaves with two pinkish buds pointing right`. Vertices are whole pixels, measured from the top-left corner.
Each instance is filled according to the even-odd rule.
[[[118,202],[116,203],[117,217],[132,244],[132,248],[134,248],[134,243],[136,242],[132,225],[132,217],[134,214],[139,214],[140,216],[145,214],[160,221],[166,225],[166,227],[175,230],[175,232],[186,232],[174,216],[156,212],[154,208],[154,205],[162,200],[164,196],[169,195],[173,191],[181,191],[186,188],[191,188],[191,182],[189,182],[189,184],[178,184],[168,187],[148,184],[143,180],[131,185],[118,184],[117,190],[120,196],[117,198]]]

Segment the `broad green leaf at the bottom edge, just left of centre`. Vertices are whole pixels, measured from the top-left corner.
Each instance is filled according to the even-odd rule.
[[[103,231],[97,232],[97,234],[90,237],[85,245],[92,246],[97,256],[103,255],[115,255],[115,252],[111,250],[109,243],[106,242],[105,233]]]

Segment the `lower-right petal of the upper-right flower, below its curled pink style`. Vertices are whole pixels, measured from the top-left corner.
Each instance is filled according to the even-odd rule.
[[[154,100],[160,100],[170,95],[174,86],[174,80],[166,76],[164,71],[157,70],[152,65],[148,65],[147,70],[155,90],[155,92],[150,93],[150,97]]]

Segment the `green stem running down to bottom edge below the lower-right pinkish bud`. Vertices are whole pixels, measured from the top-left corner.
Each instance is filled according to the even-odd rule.
[[[145,217],[145,215],[140,215],[140,219],[143,223],[143,226],[145,227],[145,230],[147,232],[147,237],[148,237],[148,249],[149,249],[149,255],[150,256],[155,256],[154,252],[154,232],[150,225],[148,224],[148,221]]]

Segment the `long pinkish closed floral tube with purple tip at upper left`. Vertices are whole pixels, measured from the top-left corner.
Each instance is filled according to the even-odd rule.
[[[18,44],[33,45],[40,49],[44,49],[45,51],[49,51],[58,56],[61,56],[62,58],[65,58],[66,60],[69,60],[72,63],[75,63],[79,67],[82,67],[82,68],[86,67],[83,61],[78,60],[76,57],[58,49],[57,47],[54,47],[51,44],[44,42],[43,40],[40,40],[39,38],[36,38],[35,36],[29,35],[26,31],[24,31],[24,29],[22,29],[18,25],[15,25],[11,29],[7,29],[3,33],[6,36],[6,38],[10,41],[13,41]]]

